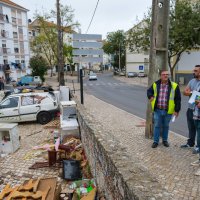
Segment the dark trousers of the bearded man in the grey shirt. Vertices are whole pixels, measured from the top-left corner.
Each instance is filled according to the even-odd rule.
[[[189,130],[189,139],[187,141],[187,144],[189,144],[190,146],[194,146],[196,137],[196,128],[193,120],[193,110],[188,108],[186,114],[187,114],[188,130]]]

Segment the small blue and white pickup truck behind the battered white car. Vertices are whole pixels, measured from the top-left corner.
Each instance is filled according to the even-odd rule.
[[[42,80],[39,76],[23,76],[17,82],[17,86],[23,85],[42,85]]]

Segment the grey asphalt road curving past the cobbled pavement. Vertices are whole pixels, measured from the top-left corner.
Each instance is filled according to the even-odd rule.
[[[97,81],[84,80],[84,91],[110,103],[122,110],[143,119],[146,118],[146,88],[143,86],[129,85],[116,80],[112,74],[100,74]],[[187,136],[187,110],[188,98],[182,96],[182,109],[175,123],[170,124],[170,130],[180,135]],[[105,116],[106,117],[106,116]],[[118,116],[120,118],[120,116]]]

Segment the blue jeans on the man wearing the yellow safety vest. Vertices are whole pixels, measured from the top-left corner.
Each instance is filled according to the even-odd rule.
[[[169,122],[172,115],[167,114],[166,110],[155,109],[154,111],[154,142],[159,143],[160,132],[162,130],[163,141],[168,140]]]

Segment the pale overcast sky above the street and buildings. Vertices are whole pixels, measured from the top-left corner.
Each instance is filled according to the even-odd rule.
[[[11,0],[30,11],[28,18],[33,18],[37,10],[39,13],[55,9],[56,0]],[[63,5],[70,5],[75,11],[75,21],[81,24],[82,33],[86,33],[92,18],[97,0],[60,0]],[[100,0],[96,14],[88,33],[102,34],[117,30],[127,31],[136,24],[136,18],[143,19],[151,7],[152,0]]]

